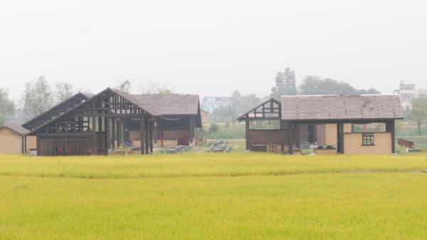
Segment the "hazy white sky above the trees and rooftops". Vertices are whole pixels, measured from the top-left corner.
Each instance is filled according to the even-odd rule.
[[[93,92],[129,79],[267,95],[275,74],[392,93],[427,88],[426,1],[0,0],[0,87],[44,75]]]

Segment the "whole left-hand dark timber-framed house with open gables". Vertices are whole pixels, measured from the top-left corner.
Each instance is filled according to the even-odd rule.
[[[194,143],[201,127],[199,96],[127,94],[107,88],[76,94],[31,119],[23,127],[37,138],[38,156],[106,154],[128,146],[152,153],[167,139],[176,145]]]

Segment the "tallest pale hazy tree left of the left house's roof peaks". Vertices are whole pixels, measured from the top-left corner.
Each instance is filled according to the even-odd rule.
[[[23,117],[32,119],[53,106],[51,84],[43,77],[27,82],[23,92]]]

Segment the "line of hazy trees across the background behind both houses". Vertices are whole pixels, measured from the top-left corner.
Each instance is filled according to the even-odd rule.
[[[118,80],[115,85],[117,89],[131,92],[132,82],[130,80]],[[9,93],[0,88],[0,126],[7,121],[23,122],[32,119],[34,116],[42,114],[54,105],[63,102],[77,92],[82,92],[67,82],[60,82],[53,86],[45,77],[38,77],[33,82],[27,82],[23,89],[23,94],[18,103],[12,101]],[[90,91],[84,91],[90,92]],[[145,84],[140,89],[142,94],[170,94],[174,89],[157,82]],[[357,89],[347,82],[322,79],[317,76],[307,76],[302,83],[297,86],[295,71],[289,67],[278,72],[275,77],[275,87],[271,89],[270,96],[257,97],[255,94],[241,94],[238,90],[231,94],[231,106],[220,107],[211,113],[214,121],[235,121],[240,114],[244,114],[249,109],[257,106],[269,97],[280,99],[282,95],[319,95],[319,94],[379,94],[376,89]],[[413,121],[418,128],[418,135],[421,135],[421,124],[427,119],[427,98],[413,99],[412,109],[405,111],[405,119]]]

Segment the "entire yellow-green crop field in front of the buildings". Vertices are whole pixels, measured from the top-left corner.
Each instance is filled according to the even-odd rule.
[[[0,239],[426,239],[427,156],[0,156]]]

